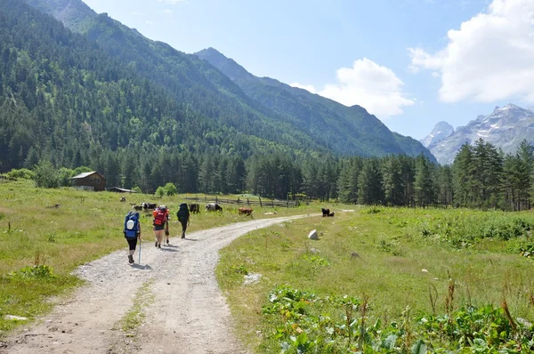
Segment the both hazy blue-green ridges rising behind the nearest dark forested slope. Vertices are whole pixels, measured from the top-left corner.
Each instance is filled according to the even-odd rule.
[[[360,106],[346,107],[270,77],[257,77],[213,48],[186,54],[152,41],[80,0],[25,0],[95,41],[138,75],[217,124],[290,149],[336,156],[434,157]]]

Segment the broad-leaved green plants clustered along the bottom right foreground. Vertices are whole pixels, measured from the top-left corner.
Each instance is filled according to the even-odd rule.
[[[403,311],[399,320],[372,318],[366,300],[319,296],[290,286],[269,294],[263,316],[274,326],[269,340],[284,353],[519,353],[534,349],[534,326],[501,307],[463,306],[446,314]],[[273,350],[273,349],[271,349]],[[276,349],[275,349],[276,350]]]

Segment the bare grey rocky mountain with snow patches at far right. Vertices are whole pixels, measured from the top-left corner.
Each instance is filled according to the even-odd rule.
[[[437,125],[433,133],[436,130],[443,132]],[[421,142],[429,142],[425,146],[443,165],[454,161],[463,144],[473,144],[479,139],[490,142],[505,153],[514,153],[521,141],[534,143],[534,111],[507,104],[503,108],[496,107],[489,116],[479,116],[468,125],[457,127],[456,131],[446,138],[428,139],[431,135]]]

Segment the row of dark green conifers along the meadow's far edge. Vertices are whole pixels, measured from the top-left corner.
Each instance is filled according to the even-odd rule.
[[[250,192],[279,199],[309,197],[360,205],[513,211],[530,209],[534,197],[534,147],[528,141],[522,141],[515,154],[507,155],[482,140],[473,146],[465,144],[452,165],[435,165],[423,155],[300,159],[284,153],[257,153],[243,159],[229,154],[128,149],[95,152],[69,161],[72,169],[58,169],[48,160],[27,161],[26,166],[35,171],[50,164],[50,173],[63,171],[55,187],[68,185],[69,177],[82,171],[77,163],[86,164],[89,167],[83,171],[99,171],[109,187],[146,193],[172,183],[179,193]]]

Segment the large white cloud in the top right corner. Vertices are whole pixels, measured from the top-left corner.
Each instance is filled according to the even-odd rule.
[[[534,1],[493,0],[448,39],[434,54],[409,48],[411,71],[441,74],[441,101],[534,102]]]

